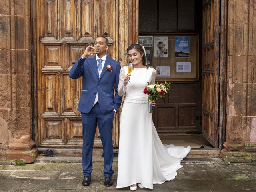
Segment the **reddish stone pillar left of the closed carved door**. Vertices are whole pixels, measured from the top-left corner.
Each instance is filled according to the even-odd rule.
[[[30,4],[0,0],[0,159],[12,154],[15,143],[23,143],[24,150],[33,143]],[[26,140],[18,140],[22,136]]]

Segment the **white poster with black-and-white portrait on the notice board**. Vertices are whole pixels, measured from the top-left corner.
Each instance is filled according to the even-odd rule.
[[[168,37],[154,37],[154,57],[168,57]]]

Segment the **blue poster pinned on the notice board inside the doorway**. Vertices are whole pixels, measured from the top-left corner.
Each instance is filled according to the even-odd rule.
[[[175,37],[175,57],[189,57],[189,37]]]

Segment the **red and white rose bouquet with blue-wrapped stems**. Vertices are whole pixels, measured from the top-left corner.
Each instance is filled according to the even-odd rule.
[[[160,97],[164,97],[166,93],[169,92],[170,89],[170,82],[164,82],[158,84],[158,82],[154,85],[148,82],[148,86],[145,87],[144,93],[148,94],[148,101],[158,100]],[[150,104],[150,113],[153,112],[153,106]]]

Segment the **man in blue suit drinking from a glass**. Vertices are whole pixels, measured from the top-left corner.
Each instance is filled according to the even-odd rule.
[[[94,135],[98,123],[100,139],[104,152],[105,186],[112,186],[112,163],[114,158],[112,144],[112,128],[114,114],[121,105],[122,97],[117,93],[119,83],[120,63],[106,55],[108,39],[98,36],[94,47],[86,47],[84,54],[75,62],[69,72],[69,77],[77,79],[83,76],[82,96],[79,101],[78,111],[82,114],[83,148],[82,163],[84,180],[82,184],[91,184],[92,173],[92,148]],[[92,51],[96,53],[93,58],[87,58]]]

